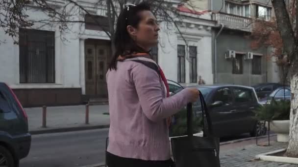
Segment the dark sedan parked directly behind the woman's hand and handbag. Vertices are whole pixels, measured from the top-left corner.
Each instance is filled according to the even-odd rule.
[[[240,85],[197,85],[209,109],[214,135],[217,137],[250,133],[264,135],[253,110],[260,104],[252,87]],[[179,91],[179,90],[178,90]],[[176,91],[175,93],[177,93]],[[200,102],[193,104],[196,116],[201,116]]]

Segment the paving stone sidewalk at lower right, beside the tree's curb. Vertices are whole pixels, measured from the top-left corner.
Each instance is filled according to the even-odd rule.
[[[271,142],[271,146],[257,146],[254,144],[221,150],[221,167],[298,167],[298,165],[294,164],[255,160],[256,155],[283,149],[287,146],[288,143]]]

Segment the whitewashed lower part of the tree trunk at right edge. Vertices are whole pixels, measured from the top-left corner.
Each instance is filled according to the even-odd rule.
[[[294,70],[293,70],[294,71]],[[296,69],[297,71],[297,69]],[[298,158],[298,74],[291,77],[290,140],[286,155]]]

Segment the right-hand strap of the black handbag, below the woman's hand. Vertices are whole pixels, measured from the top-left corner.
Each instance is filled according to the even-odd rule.
[[[202,110],[203,136],[204,137],[213,136],[212,122],[211,122],[210,114],[208,112],[208,107],[200,91],[199,91],[199,100],[200,100],[201,110]]]

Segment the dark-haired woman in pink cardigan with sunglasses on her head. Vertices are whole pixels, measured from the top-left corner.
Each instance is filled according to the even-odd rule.
[[[147,3],[128,5],[118,17],[116,53],[107,72],[110,129],[108,167],[169,167],[166,119],[199,98],[196,88],[169,97],[169,86],[149,51],[159,26]]]

